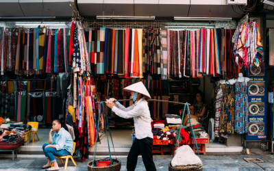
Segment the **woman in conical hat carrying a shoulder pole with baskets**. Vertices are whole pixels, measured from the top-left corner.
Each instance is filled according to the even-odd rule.
[[[114,102],[116,101],[115,98],[110,98],[110,100],[106,101],[106,104],[116,115],[122,118],[134,118],[136,138],[127,156],[127,170],[135,170],[138,155],[141,154],[146,170],[155,171],[156,168],[152,155],[153,135],[151,132],[151,117],[146,101],[151,96],[141,81],[127,86],[124,90],[130,92],[132,95],[133,105],[126,108],[121,103]]]

